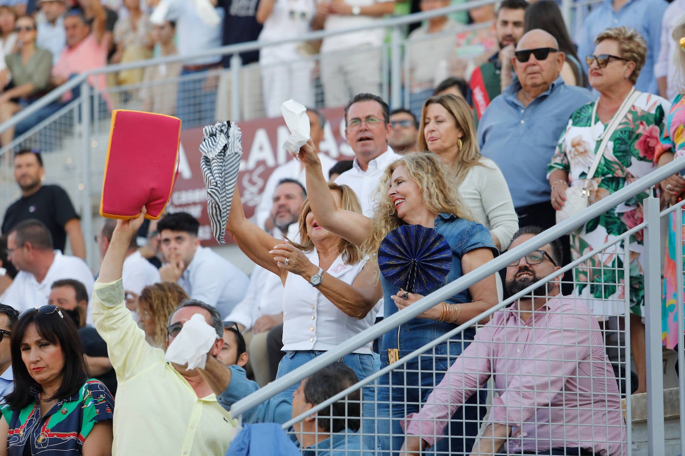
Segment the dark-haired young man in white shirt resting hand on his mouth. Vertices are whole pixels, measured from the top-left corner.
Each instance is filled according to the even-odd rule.
[[[202,247],[200,224],[186,212],[166,215],[157,225],[166,264],[160,269],[164,282],[178,283],[192,299],[206,302],[225,318],[245,296],[249,279],[244,272]]]

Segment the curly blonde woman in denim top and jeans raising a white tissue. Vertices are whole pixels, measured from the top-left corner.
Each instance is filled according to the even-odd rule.
[[[435,228],[445,237],[452,251],[449,274],[436,289],[484,265],[497,254],[490,232],[481,224],[471,221],[470,212],[458,196],[451,172],[433,153],[408,154],[388,166],[379,185],[373,219],[345,211],[328,196],[324,191],[327,184],[321,164],[311,142],[301,148],[299,158],[305,163],[307,189],[316,222],[360,245],[363,254],[377,258],[381,241],[388,232],[399,226],[419,224]],[[423,297],[398,289],[383,276],[380,282],[386,317]],[[490,276],[420,314],[406,325],[384,334],[381,367],[453,330],[456,325],[477,317],[495,304],[495,277]],[[406,414],[418,412],[421,403],[474,335],[473,327],[464,330],[453,336],[449,343],[440,343],[420,359],[410,360],[379,379],[376,420],[382,450],[391,454],[399,452],[403,442],[399,421]],[[450,422],[449,438],[438,442],[438,451],[461,454],[471,449],[478,432],[478,421],[484,416],[485,396],[485,392],[474,394],[467,402],[469,405],[456,412]],[[391,407],[390,403],[395,406]]]

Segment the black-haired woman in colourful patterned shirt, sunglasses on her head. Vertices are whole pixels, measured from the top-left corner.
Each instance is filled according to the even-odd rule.
[[[112,454],[114,398],[89,379],[76,326],[56,306],[23,312],[10,341],[0,455]]]

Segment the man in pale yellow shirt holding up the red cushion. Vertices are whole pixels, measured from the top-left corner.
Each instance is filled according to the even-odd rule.
[[[199,374],[223,346],[219,313],[201,301],[186,300],[171,315],[166,358],[189,360],[186,365],[167,362],[164,351],[151,347],[126,308],[121,271],[144,213],[117,222],[93,296],[92,318],[119,381],[112,453],[223,455],[237,422]]]

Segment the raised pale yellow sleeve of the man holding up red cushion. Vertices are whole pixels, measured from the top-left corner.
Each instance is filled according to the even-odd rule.
[[[95,282],[92,299],[95,329],[107,343],[117,381],[130,379],[156,363],[164,363],[164,351],[151,347],[145,332],[126,308],[121,279]]]

